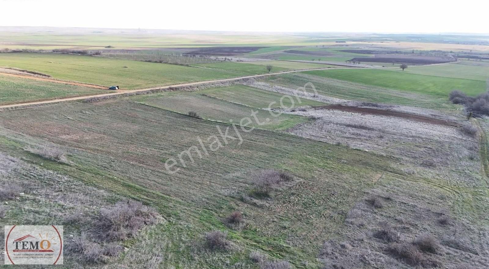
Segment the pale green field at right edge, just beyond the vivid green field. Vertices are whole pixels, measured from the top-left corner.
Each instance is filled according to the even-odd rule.
[[[479,63],[480,65],[476,65]],[[458,78],[467,80],[487,81],[489,65],[473,61],[460,61],[449,64],[415,66],[407,68],[406,72],[436,77]]]

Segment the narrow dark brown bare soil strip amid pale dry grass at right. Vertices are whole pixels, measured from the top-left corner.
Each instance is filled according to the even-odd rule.
[[[341,111],[360,113],[360,114],[398,117],[398,118],[407,119],[407,120],[414,121],[414,122],[421,122],[421,123],[427,123],[427,124],[437,124],[437,125],[445,125],[445,126],[452,126],[452,127],[460,127],[460,124],[458,124],[456,122],[450,122],[450,121],[434,119],[434,118],[429,118],[429,117],[414,115],[414,114],[408,114],[408,113],[403,113],[403,112],[398,112],[398,111],[391,111],[391,110],[381,110],[381,109],[375,109],[375,108],[346,106],[346,105],[340,105],[340,104],[325,105],[325,106],[322,106],[322,108],[331,109],[331,110],[341,110]]]

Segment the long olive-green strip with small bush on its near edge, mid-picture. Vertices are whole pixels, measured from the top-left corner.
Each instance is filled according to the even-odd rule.
[[[252,98],[252,97],[250,97]],[[296,124],[308,121],[306,117],[282,114],[274,117],[266,110],[253,109],[237,103],[231,103],[215,98],[192,93],[160,93],[151,96],[136,97],[133,100],[158,108],[167,109],[186,115],[189,111],[195,111],[207,120],[239,124],[243,118],[253,118],[251,115],[256,111],[257,121],[250,127],[266,130],[286,130]],[[245,122],[244,122],[245,123]]]

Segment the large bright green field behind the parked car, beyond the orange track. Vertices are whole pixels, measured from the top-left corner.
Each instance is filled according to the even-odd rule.
[[[54,78],[99,85],[120,85],[135,89],[182,82],[194,82],[248,75],[245,66],[231,71],[196,68],[166,63],[131,61],[79,55],[44,53],[2,53],[0,66],[39,71]],[[127,66],[127,67],[124,67]],[[256,69],[259,69],[258,67]],[[253,70],[265,73],[266,70]]]

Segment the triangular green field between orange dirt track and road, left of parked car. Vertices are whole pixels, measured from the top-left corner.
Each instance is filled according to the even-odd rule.
[[[42,101],[98,93],[107,93],[107,90],[36,81],[0,74],[0,104]]]

